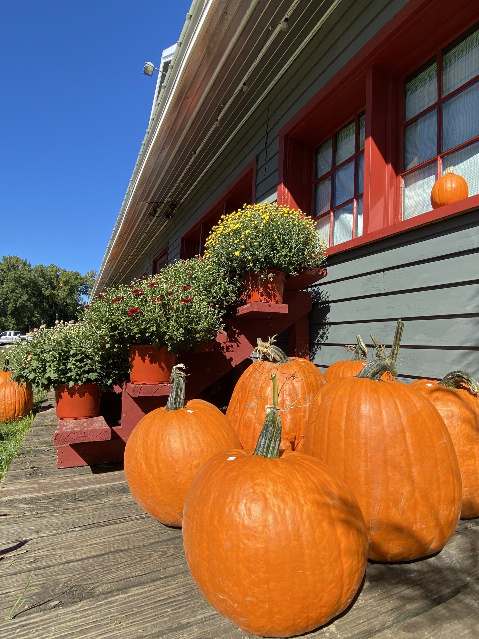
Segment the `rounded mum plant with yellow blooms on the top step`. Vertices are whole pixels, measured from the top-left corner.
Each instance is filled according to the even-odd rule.
[[[206,240],[204,261],[229,273],[266,271],[293,275],[324,263],[326,247],[314,221],[277,204],[245,204],[222,215]]]

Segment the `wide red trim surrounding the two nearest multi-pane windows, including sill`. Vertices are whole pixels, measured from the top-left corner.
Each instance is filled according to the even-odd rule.
[[[328,249],[347,250],[377,238],[430,224],[447,215],[474,208],[476,196],[442,209],[401,220],[400,169],[402,169],[402,86],[404,78],[430,60],[437,50],[473,26],[479,17],[475,3],[457,0],[451,19],[445,21],[446,0],[410,0],[279,132],[278,203],[312,214],[312,148],[317,123],[327,139],[340,124],[335,121],[345,104],[365,95],[366,143],[363,199],[363,236]],[[450,15],[450,14],[449,14]],[[450,97],[450,96],[448,96]],[[364,98],[363,98],[364,100]],[[350,105],[346,119],[358,111]],[[319,140],[317,140],[319,142]],[[464,143],[471,144],[473,140]],[[316,145],[317,146],[317,145]],[[458,148],[460,148],[458,146]],[[454,149],[455,150],[455,149]],[[448,150],[446,153],[451,153]],[[430,160],[425,162],[429,164]],[[413,170],[420,168],[420,165]],[[458,210],[459,207],[459,210]]]

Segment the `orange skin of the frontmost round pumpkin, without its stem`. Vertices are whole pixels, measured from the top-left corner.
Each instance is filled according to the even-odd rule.
[[[208,603],[260,636],[323,625],[351,602],[366,567],[353,494],[319,460],[291,451],[209,459],[186,497],[183,544]]]

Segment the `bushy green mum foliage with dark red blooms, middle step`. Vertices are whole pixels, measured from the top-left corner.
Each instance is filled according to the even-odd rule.
[[[200,258],[180,260],[158,275],[99,293],[83,319],[124,357],[133,343],[184,353],[222,330],[237,284]]]

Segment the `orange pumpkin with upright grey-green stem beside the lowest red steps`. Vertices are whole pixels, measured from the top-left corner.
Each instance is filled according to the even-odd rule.
[[[223,413],[202,399],[185,406],[183,364],[173,367],[166,407],[145,415],[125,449],[125,475],[137,504],[167,526],[181,527],[186,493],[204,462],[240,447]]]

